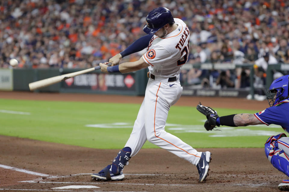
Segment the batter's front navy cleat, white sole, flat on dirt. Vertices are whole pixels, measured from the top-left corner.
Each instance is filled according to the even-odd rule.
[[[117,175],[114,175],[110,170],[111,165],[107,165],[103,170],[99,173],[93,173],[91,175],[92,180],[100,180],[100,181],[121,181],[124,179],[123,172],[120,172]]]

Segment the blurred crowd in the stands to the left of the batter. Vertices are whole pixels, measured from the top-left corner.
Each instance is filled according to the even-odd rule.
[[[153,1],[0,1],[0,67],[87,68],[144,35]],[[136,59],[132,55],[129,60]]]

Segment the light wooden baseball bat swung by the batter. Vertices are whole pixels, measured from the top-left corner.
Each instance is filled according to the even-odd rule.
[[[107,65],[110,66],[111,64],[112,63],[108,63]],[[29,83],[29,88],[30,88],[30,91],[34,91],[35,89],[39,89],[39,88],[42,88],[42,87],[47,87],[49,85],[53,85],[55,83],[58,83],[58,82],[61,82],[61,81],[65,81],[66,79],[69,79],[70,77],[74,77],[74,76],[81,75],[81,74],[84,74],[84,73],[88,73],[88,72],[91,72],[91,71],[94,71],[94,70],[98,70],[98,69],[100,69],[100,66],[92,67],[92,68],[81,70],[81,71],[76,71],[76,72],[73,72],[73,73],[67,73],[67,74],[64,74],[64,75],[58,75],[58,76],[50,77],[50,78],[47,78],[47,79],[42,79],[42,80],[39,80],[39,81],[35,81],[35,82],[32,82],[32,83]]]

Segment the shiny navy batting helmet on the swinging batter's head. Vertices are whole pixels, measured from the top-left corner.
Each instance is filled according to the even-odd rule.
[[[147,34],[154,34],[167,23],[173,24],[175,22],[171,11],[166,7],[155,8],[148,13],[145,20],[147,24],[142,30]]]

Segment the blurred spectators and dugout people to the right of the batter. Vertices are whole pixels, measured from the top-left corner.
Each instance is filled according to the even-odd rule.
[[[193,7],[186,21],[191,31],[189,64],[253,64],[254,86],[264,88],[268,65],[289,63],[289,1],[198,1]],[[185,85],[250,86],[250,70],[244,68],[192,68],[182,74]],[[281,75],[275,71],[274,78]]]

